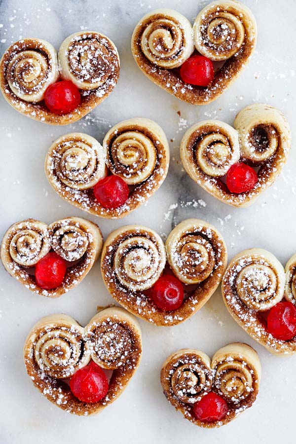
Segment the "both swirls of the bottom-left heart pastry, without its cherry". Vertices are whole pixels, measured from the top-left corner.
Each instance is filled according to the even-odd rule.
[[[47,316],[29,333],[25,358],[40,376],[57,379],[71,377],[90,359],[103,369],[115,370],[141,353],[135,325],[120,308],[99,312],[85,328],[67,315]]]

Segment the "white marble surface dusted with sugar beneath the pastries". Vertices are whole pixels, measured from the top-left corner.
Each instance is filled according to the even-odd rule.
[[[124,220],[91,217],[99,223],[104,236],[129,222],[148,224],[165,236],[177,222],[198,217],[221,230],[230,258],[245,248],[262,247],[285,264],[296,252],[294,147],[281,177],[248,209],[233,209],[216,201],[186,176],[179,161],[179,144],[187,126],[206,117],[231,124],[236,112],[252,102],[266,102],[284,111],[294,130],[296,3],[245,2],[258,21],[256,54],[221,98],[211,105],[194,107],[161,91],[144,77],[133,61],[130,37],[137,21],[151,8],[173,7],[193,19],[207,1],[1,0],[1,54],[20,37],[41,37],[58,48],[68,35],[80,29],[94,29],[107,34],[117,45],[121,76],[115,91],[101,106],[69,127],[51,127],[30,120],[0,97],[0,236],[11,223],[23,218],[52,222],[70,215],[87,217],[48,185],[43,172],[48,147],[57,137],[74,130],[102,141],[116,122],[145,116],[155,119],[168,139],[173,139],[168,177],[147,205]],[[181,111],[181,118],[177,111]],[[199,199],[206,205],[199,204]],[[0,266],[1,443],[292,442],[296,356],[273,357],[253,341],[226,312],[220,289],[194,317],[177,327],[157,328],[141,321],[141,367],[123,395],[101,415],[75,417],[52,406],[26,374],[22,360],[26,334],[38,318],[53,312],[66,312],[85,324],[97,305],[110,302],[99,263],[74,291],[53,300],[31,294]],[[169,353],[181,347],[201,348],[212,355],[234,340],[245,341],[259,352],[263,375],[258,400],[222,429],[199,429],[167,403],[159,382],[161,364]]]

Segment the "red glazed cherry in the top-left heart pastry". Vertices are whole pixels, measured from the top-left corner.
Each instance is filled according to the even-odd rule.
[[[73,111],[80,100],[79,89],[70,80],[52,83],[44,95],[44,102],[49,111],[59,115]]]

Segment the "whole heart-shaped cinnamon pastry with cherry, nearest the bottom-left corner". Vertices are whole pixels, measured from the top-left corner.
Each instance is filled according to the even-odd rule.
[[[46,316],[24,345],[26,370],[39,392],[63,410],[84,416],[121,395],[141,356],[140,326],[119,307],[103,309],[84,328],[64,314]]]

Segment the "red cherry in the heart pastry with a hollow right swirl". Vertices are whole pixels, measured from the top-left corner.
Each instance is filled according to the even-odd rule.
[[[256,171],[243,162],[231,165],[226,177],[226,185],[231,193],[239,194],[250,191],[258,182]]]

